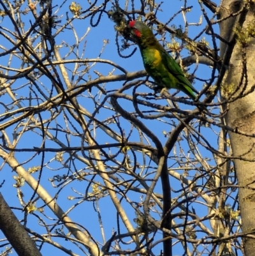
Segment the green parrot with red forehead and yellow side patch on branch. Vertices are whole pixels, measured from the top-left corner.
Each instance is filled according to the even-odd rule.
[[[179,89],[195,100],[194,93],[198,94],[198,91],[184,76],[179,64],[157,41],[152,30],[138,20],[130,21],[129,28],[140,48],[145,70],[159,87]]]

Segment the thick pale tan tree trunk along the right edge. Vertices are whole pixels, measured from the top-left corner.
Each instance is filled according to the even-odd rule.
[[[237,13],[245,3],[245,1],[222,1],[219,18],[227,17],[230,13]],[[236,158],[233,162],[240,186],[242,231],[250,234],[255,230],[255,139],[251,136],[240,135],[239,132],[247,135],[255,134],[255,93],[252,90],[255,84],[255,40],[247,30],[247,26],[251,27],[255,24],[253,11],[254,6],[251,3],[249,11],[242,11],[240,15],[226,19],[219,24],[221,36],[230,42],[230,45],[221,43],[221,57],[226,58],[225,64],[228,66],[221,84],[221,95],[222,100],[225,100],[227,87],[227,94],[233,94],[231,99],[237,98],[226,105],[229,110],[225,120],[226,125],[235,129],[235,132],[230,132],[230,142],[233,157]],[[239,32],[232,33],[233,30],[230,30],[230,27],[233,28],[237,24],[240,27],[237,27],[235,31],[248,34],[247,43],[244,43],[245,40],[240,40]],[[243,243],[244,254],[255,255],[254,239],[244,237]]]

